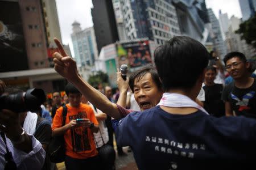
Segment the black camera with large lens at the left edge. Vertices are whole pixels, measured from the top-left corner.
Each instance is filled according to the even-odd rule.
[[[9,109],[15,113],[37,112],[44,101],[46,101],[44,91],[39,88],[32,88],[27,92],[0,96],[0,109]]]

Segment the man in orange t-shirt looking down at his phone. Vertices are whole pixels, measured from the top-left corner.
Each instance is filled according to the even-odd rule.
[[[100,169],[93,133],[98,121],[93,109],[81,103],[81,93],[73,84],[65,87],[69,103],[63,126],[63,107],[57,109],[52,124],[52,135],[63,135],[65,140],[65,166],[67,169]]]

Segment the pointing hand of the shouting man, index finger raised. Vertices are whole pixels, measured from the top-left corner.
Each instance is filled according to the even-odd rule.
[[[79,76],[76,61],[68,56],[57,38],[54,38],[54,41],[60,52],[55,52],[53,54],[54,69],[69,82],[72,82],[72,80],[77,79]]]

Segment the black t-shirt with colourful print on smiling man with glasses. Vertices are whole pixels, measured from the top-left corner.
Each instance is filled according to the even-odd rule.
[[[237,88],[230,83],[223,90],[222,99],[229,101],[237,116],[256,118],[256,80],[249,88]]]

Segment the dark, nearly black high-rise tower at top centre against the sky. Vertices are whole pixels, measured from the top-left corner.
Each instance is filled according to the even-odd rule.
[[[97,49],[119,40],[113,3],[109,0],[93,0],[92,19]]]

